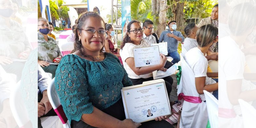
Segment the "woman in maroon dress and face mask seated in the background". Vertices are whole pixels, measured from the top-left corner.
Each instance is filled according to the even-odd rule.
[[[111,24],[106,23],[106,34],[106,43],[104,45],[106,52],[113,53],[116,57],[118,57],[121,64],[123,65],[122,59],[119,54],[120,49],[117,48],[116,41],[114,40],[114,38],[112,38],[115,35],[115,31]]]

